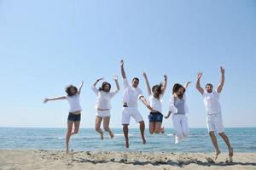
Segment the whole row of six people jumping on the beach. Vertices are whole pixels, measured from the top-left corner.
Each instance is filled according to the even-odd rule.
[[[166,119],[172,115],[173,128],[175,132],[175,144],[188,137],[189,135],[189,125],[186,114],[189,112],[188,105],[186,105],[186,95],[185,92],[189,87],[191,82],[186,82],[183,86],[182,84],[175,83],[172,88],[172,96],[169,104],[169,111],[167,116],[163,115],[162,111],[162,98],[166,92],[167,86],[167,76],[164,76],[164,81],[160,84],[150,87],[148,76],[143,72],[143,77],[145,79],[148,91],[148,100],[143,96],[143,91],[138,88],[139,78],[134,77],[131,81],[131,84],[128,82],[125,69],[124,61],[120,61],[120,70],[123,77],[123,86],[124,86],[124,95],[123,95],[123,107],[122,107],[122,125],[123,132],[125,136],[125,147],[129,148],[129,124],[131,117],[139,123],[141,136],[143,139],[143,144],[146,144],[146,139],[144,136],[145,123],[143,121],[143,116],[138,110],[137,101],[140,99],[143,104],[150,111],[148,114],[149,120],[149,133],[165,133],[165,128],[162,127],[163,117]],[[207,113],[207,128],[209,135],[212,139],[212,144],[215,149],[215,159],[218,158],[220,150],[218,149],[218,142],[214,132],[217,132],[218,135],[224,139],[225,144],[227,144],[229,149],[230,158],[233,156],[233,148],[230,145],[230,140],[227,135],[224,133],[224,125],[222,120],[221,106],[219,103],[219,95],[224,87],[224,68],[220,67],[221,80],[218,84],[218,87],[213,90],[211,83],[207,83],[204,88],[201,88],[201,77],[202,72],[197,74],[196,79],[196,88],[203,96],[204,105],[206,107]],[[103,78],[99,78],[92,85],[92,91],[96,94],[96,132],[100,134],[100,138],[104,139],[103,131],[101,129],[101,124],[103,121],[103,128],[105,132],[109,133],[111,139],[114,138],[114,134],[109,128],[109,122],[111,117],[111,99],[113,99],[115,94],[119,93],[119,82],[118,77],[113,78],[116,89],[111,91],[111,84],[109,82],[102,82],[100,88],[96,88],[96,84],[102,81]],[[67,136],[66,136],[66,149],[67,153],[69,139],[73,134],[79,132],[79,125],[81,120],[82,108],[80,105],[80,93],[84,85],[84,82],[81,83],[79,88],[76,88],[73,85],[69,85],[66,88],[66,96],[61,96],[57,98],[45,98],[44,103],[52,100],[58,99],[67,99],[70,110],[67,117]]]

